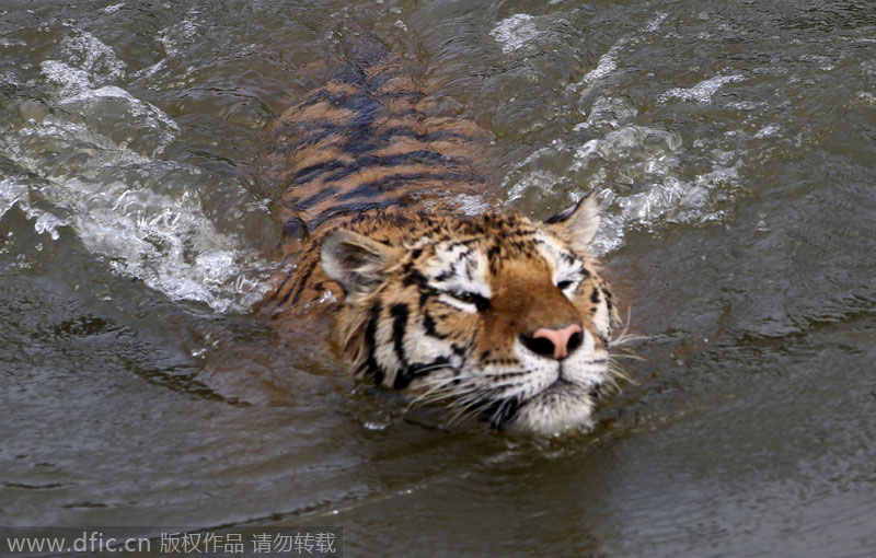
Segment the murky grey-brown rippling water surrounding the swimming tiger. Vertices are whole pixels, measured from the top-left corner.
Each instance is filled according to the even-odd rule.
[[[338,524],[351,556],[869,556],[876,3],[8,1],[0,524]],[[262,130],[415,37],[503,202],[596,189],[634,383],[438,431],[246,314]],[[323,335],[316,332],[314,335]]]

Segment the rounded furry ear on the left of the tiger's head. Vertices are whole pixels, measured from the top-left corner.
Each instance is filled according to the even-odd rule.
[[[385,280],[392,247],[347,229],[330,231],[322,240],[322,268],[348,297],[365,297]]]

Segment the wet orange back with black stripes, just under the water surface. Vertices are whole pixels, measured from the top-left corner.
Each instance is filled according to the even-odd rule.
[[[273,125],[267,174],[283,193],[287,234],[303,224],[312,235],[370,209],[453,211],[460,195],[488,194],[472,164],[493,137],[448,116],[411,66],[350,63]]]

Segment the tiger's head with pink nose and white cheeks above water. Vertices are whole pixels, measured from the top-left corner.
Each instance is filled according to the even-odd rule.
[[[591,196],[544,222],[422,216],[395,237],[335,229],[322,265],[346,292],[341,342],[360,374],[442,402],[451,418],[587,430],[612,382],[618,322],[589,252],[598,224]]]

